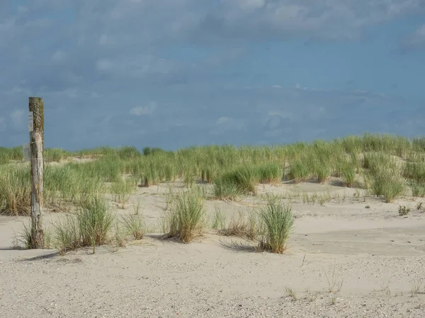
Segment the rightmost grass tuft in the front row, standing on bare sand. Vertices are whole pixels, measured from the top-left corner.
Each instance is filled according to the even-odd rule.
[[[267,204],[259,208],[259,219],[264,229],[259,249],[278,254],[285,252],[294,225],[292,208],[270,196]]]

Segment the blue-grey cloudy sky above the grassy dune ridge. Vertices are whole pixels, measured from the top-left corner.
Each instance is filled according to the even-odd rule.
[[[425,131],[425,0],[0,0],[0,146]]]

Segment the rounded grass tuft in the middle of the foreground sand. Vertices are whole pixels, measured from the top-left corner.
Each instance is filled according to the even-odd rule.
[[[206,210],[203,199],[195,191],[180,191],[171,202],[171,211],[164,213],[164,238],[177,237],[184,243],[202,235]]]

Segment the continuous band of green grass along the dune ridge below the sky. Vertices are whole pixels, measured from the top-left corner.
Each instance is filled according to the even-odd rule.
[[[69,156],[94,160],[64,160]],[[122,183],[123,175],[131,175],[135,189],[176,180],[186,187],[205,182],[212,184],[212,198],[233,201],[256,195],[258,184],[281,180],[325,183],[339,177],[345,187],[358,187],[356,180],[362,175],[369,193],[385,201],[404,194],[407,185],[414,196],[422,196],[421,184],[425,183],[425,138],[387,134],[276,146],[201,146],[174,152],[99,147],[70,153],[46,148],[45,158],[45,205],[55,211],[69,211],[99,193],[114,192],[115,199],[125,203],[131,192]],[[51,161],[61,163],[52,165]],[[0,148],[0,210],[28,215],[29,194],[29,164],[22,163],[22,148]]]

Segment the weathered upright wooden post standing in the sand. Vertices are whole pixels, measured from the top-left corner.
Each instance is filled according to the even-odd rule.
[[[42,98],[30,97],[28,129],[31,160],[31,248],[43,248],[42,204],[44,188],[44,105]]]

